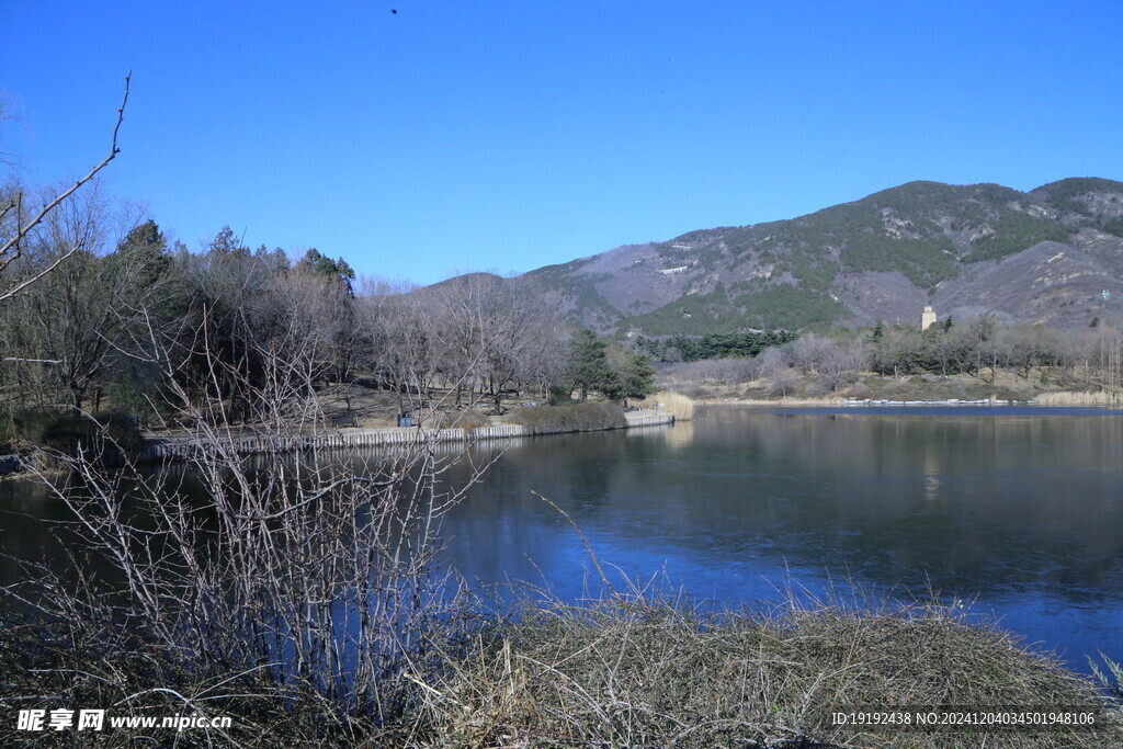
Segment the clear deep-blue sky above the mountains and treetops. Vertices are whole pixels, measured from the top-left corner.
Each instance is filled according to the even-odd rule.
[[[396,9],[398,12],[391,12]],[[911,180],[1123,180],[1123,3],[0,0],[24,177],[133,98],[119,197],[198,248],[430,283]]]

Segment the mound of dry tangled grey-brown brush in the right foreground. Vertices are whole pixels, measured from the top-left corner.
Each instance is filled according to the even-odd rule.
[[[1106,727],[1028,733],[869,732],[860,707],[1104,706],[1095,687],[940,605],[860,611],[789,601],[707,614],[618,597],[531,608],[422,684],[431,746],[1119,746]],[[421,679],[418,679],[419,683]]]

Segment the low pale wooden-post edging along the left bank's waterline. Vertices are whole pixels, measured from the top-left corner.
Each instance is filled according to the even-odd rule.
[[[628,427],[651,427],[674,423],[670,413],[627,413]],[[503,427],[480,427],[476,429],[421,429],[419,427],[399,427],[383,429],[331,429],[310,435],[292,437],[273,437],[247,433],[231,438],[234,449],[238,455],[255,455],[261,453],[289,453],[311,449],[348,449],[362,447],[378,447],[383,445],[414,445],[419,442],[456,442],[483,439],[508,439],[523,437],[526,430],[518,424]],[[148,440],[144,457],[148,460],[185,460],[192,458],[199,449],[190,437],[156,437]]]

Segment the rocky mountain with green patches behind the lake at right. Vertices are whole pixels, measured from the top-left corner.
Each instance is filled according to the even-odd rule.
[[[1019,192],[910,182],[800,218],[691,231],[531,271],[576,321],[650,336],[989,312],[1085,328],[1123,318],[1123,183]],[[1103,291],[1110,292],[1104,299]]]

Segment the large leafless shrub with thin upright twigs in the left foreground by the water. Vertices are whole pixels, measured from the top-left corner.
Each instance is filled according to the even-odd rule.
[[[440,518],[465,487],[442,483],[446,463],[431,440],[367,459],[289,453],[313,445],[307,438],[322,428],[312,389],[322,359],[298,317],[285,319],[291,339],[261,341],[264,371],[239,382],[254,407],[253,435],[271,451],[239,455],[244,435],[213,418],[211,401],[195,402],[168,347],[155,341],[192,449],[190,479],[136,462],[109,473],[81,451],[56,455],[69,471],[40,479],[72,513],[64,532],[73,567],[69,576],[29,568],[27,584],[4,593],[71,641],[97,643],[107,663],[161,654],[182,672],[176,679],[193,675],[185,683],[197,691],[183,695],[192,709],[252,683],[280,704],[319,703],[325,731],[346,732],[353,718],[391,723],[412,698],[407,666],[421,667],[428,643],[447,639],[436,632],[449,625],[455,590],[432,560]],[[241,375],[201,345],[193,354],[209,366],[206,398]],[[110,572],[94,579],[91,560]],[[121,694],[184,683],[149,677],[102,675]]]

